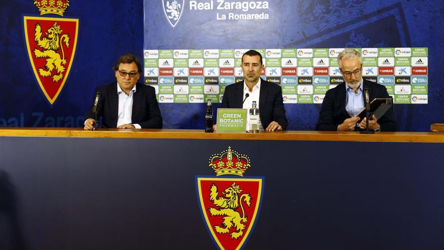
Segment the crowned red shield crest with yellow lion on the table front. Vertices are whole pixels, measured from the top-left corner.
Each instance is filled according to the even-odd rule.
[[[264,178],[243,178],[250,160],[231,147],[212,155],[209,167],[215,171],[216,177],[196,176],[204,222],[220,249],[242,249],[259,214]]]

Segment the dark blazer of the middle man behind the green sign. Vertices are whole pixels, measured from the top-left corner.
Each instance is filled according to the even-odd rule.
[[[220,108],[242,109],[244,98],[244,81],[230,84],[225,88]],[[259,90],[259,118],[264,129],[272,121],[279,123],[283,130],[287,128],[288,121],[285,116],[281,87],[262,78],[260,78]]]

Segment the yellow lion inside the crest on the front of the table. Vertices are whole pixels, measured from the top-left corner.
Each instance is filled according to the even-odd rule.
[[[211,185],[210,191],[210,201],[213,202],[214,206],[220,208],[220,210],[209,208],[208,210],[210,212],[210,215],[224,216],[224,222],[222,222],[222,225],[224,227],[216,225],[214,226],[214,230],[216,230],[217,233],[229,233],[230,229],[234,226],[236,231],[230,234],[231,238],[237,239],[241,237],[244,234],[244,223],[247,222],[247,217],[245,216],[242,202],[246,203],[248,207],[250,207],[250,194],[244,193],[239,197],[239,194],[242,192],[242,190],[239,189],[239,185],[236,185],[235,182],[233,182],[231,187],[228,187],[222,192],[222,194],[224,194],[225,196],[217,197],[217,186],[214,185],[214,183]],[[235,211],[235,209],[239,208],[239,206],[242,210],[242,217],[239,212]]]

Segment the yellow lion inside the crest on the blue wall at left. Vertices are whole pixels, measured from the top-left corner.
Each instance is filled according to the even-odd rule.
[[[51,75],[51,72],[55,69],[57,73],[52,76],[52,81],[58,82],[63,77],[63,72],[65,72],[66,58],[65,52],[63,51],[63,43],[69,48],[70,37],[68,34],[61,35],[63,30],[60,29],[60,25],[54,22],[53,26],[49,28],[45,34],[47,37],[42,37],[41,27],[37,23],[35,24],[35,34],[34,40],[37,42],[38,46],[43,48],[43,51],[39,49],[34,49],[35,58],[47,58],[45,69],[39,68],[38,73],[40,76],[47,77]],[[59,48],[62,48],[62,57],[57,53]]]

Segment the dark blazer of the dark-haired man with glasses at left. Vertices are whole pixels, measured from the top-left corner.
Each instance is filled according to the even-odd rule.
[[[119,113],[117,82],[99,86],[94,93],[97,91],[100,91],[101,94],[97,107],[97,119],[101,117],[103,126],[107,128],[116,128]],[[85,120],[89,118],[94,119],[92,106],[84,118]],[[162,128],[162,117],[153,87],[140,83],[136,84],[136,92],[133,95],[131,123],[137,123],[142,128]]]

